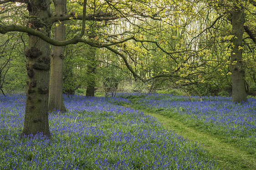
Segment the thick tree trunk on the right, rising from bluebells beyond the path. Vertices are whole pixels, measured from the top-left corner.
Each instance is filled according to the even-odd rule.
[[[231,50],[232,102],[247,101],[244,67],[242,58],[243,33],[245,15],[240,8],[232,14],[232,32],[234,34]]]

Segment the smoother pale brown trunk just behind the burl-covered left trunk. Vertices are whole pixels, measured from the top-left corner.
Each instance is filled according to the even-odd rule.
[[[54,3],[55,15],[66,15],[67,0],[56,0]],[[66,26],[65,21],[55,23],[54,39],[58,41],[65,40]],[[63,102],[63,60],[64,60],[63,47],[52,47],[51,58],[51,75],[50,75],[50,92],[49,92],[49,111],[59,110],[66,112],[67,109]]]

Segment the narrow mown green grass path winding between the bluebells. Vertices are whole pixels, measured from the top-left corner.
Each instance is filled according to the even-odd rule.
[[[210,134],[195,130],[174,118],[165,117],[145,110],[142,111],[145,114],[155,117],[165,128],[174,131],[190,141],[195,141],[200,144],[202,148],[208,151],[211,157],[217,160],[221,169],[256,170],[256,158],[246,153],[246,151],[242,151],[215,136],[210,136]]]

